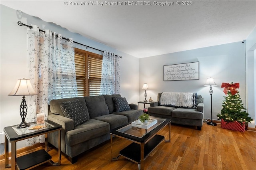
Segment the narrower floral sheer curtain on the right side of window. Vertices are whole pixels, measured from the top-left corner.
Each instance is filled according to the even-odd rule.
[[[108,51],[103,52],[100,94],[120,94],[120,57]]]

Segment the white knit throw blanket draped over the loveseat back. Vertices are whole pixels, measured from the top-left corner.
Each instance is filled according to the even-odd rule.
[[[160,105],[179,108],[196,108],[196,95],[196,93],[163,92],[160,97]]]

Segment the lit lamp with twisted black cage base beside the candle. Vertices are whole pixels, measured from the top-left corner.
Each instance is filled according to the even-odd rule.
[[[32,87],[29,79],[18,79],[14,89],[8,96],[22,96],[22,102],[20,104],[20,117],[22,122],[18,125],[17,128],[25,128],[30,125],[26,123],[25,118],[28,113],[28,106],[26,104],[25,96],[37,95],[36,91]]]

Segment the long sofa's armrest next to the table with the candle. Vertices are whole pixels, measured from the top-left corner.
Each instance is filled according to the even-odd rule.
[[[73,130],[75,128],[73,119],[67,117],[50,114],[48,115],[48,120],[58,123],[59,125],[62,125],[62,129],[65,130],[65,132]]]

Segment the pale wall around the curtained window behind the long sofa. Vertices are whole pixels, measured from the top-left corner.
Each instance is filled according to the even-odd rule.
[[[74,41],[89,45],[91,47],[114,52],[122,56],[120,60],[121,95],[126,97],[128,103],[136,103],[139,100],[139,59],[108,47],[102,43],[92,41],[79,34],[69,32],[56,24],[44,22],[40,18],[33,17],[22,12],[0,5],[1,26],[0,26],[0,132],[4,127],[18,125],[21,122],[19,107],[20,97],[8,96],[12,91],[18,78],[28,78],[28,55],[25,26],[18,26],[17,22],[34,24],[41,30],[52,30],[62,34],[65,38],[73,38]],[[94,49],[86,49],[82,45],[75,44],[75,47],[101,54]],[[28,106],[29,109],[29,106]],[[23,145],[17,145],[17,148]],[[23,146],[24,147],[24,146]]]

